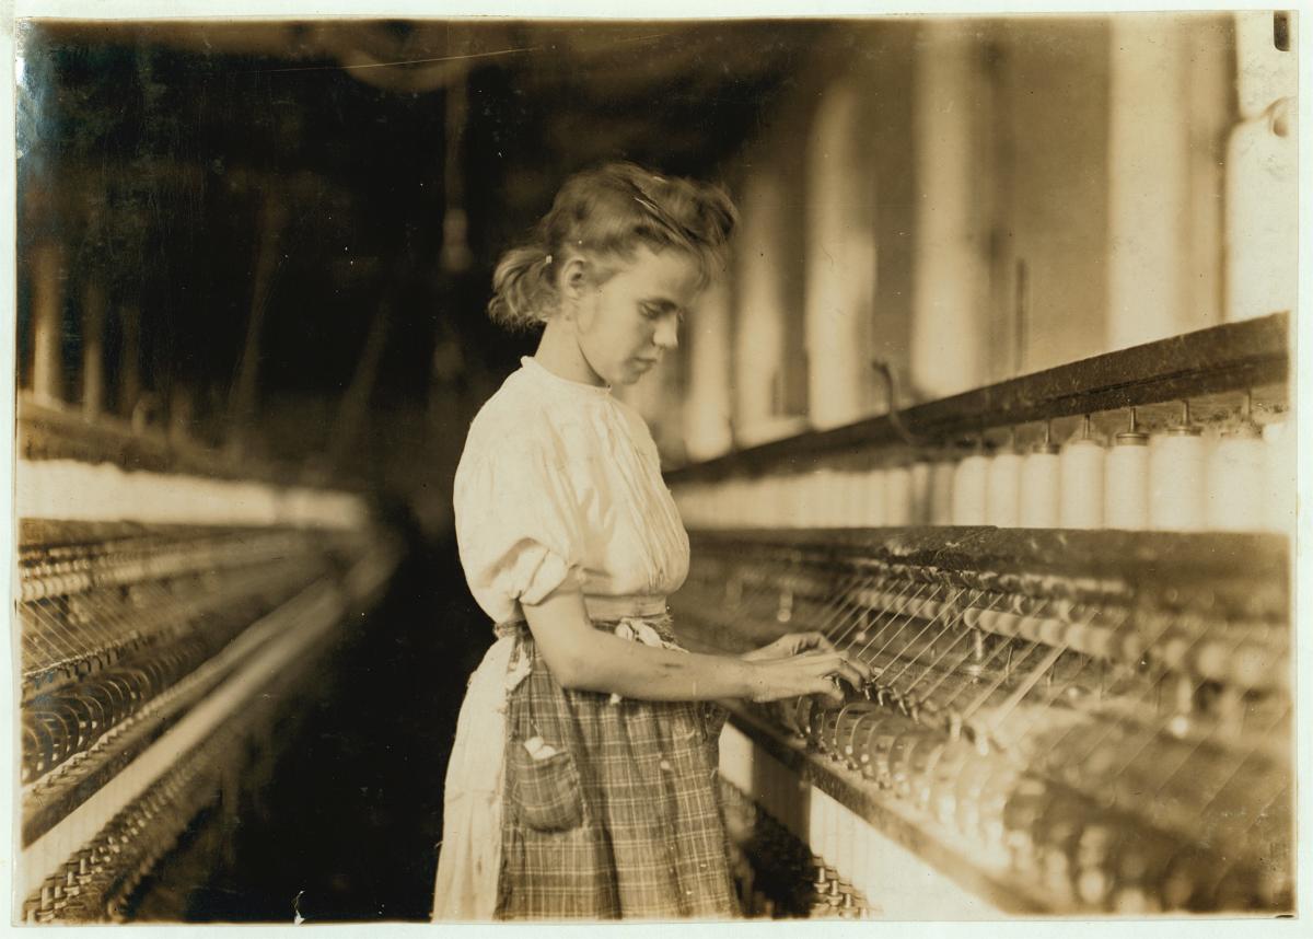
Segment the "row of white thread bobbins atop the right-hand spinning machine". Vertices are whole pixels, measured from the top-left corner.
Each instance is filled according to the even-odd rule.
[[[1289,531],[1293,435],[1254,423],[1205,435],[1183,402],[1178,422],[1149,435],[1130,408],[1107,445],[1090,416],[1064,445],[1050,422],[1033,447],[1016,431],[990,453],[979,435],[965,456],[688,483],[675,496],[693,528],[881,528],[994,525],[1129,531]]]

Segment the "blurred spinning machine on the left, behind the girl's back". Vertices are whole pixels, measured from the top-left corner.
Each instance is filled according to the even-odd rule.
[[[104,444],[20,424],[26,922],[133,918],[161,859],[235,818],[403,548],[358,494],[126,471]]]

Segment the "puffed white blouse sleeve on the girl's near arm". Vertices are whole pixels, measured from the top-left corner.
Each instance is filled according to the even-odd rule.
[[[456,538],[470,592],[494,622],[519,619],[567,580],[582,583],[579,513],[540,441],[503,439],[462,456]]]

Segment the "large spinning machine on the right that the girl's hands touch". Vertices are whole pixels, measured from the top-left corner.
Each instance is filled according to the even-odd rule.
[[[741,707],[722,738],[722,775],[811,846],[832,910],[1293,909],[1289,511],[1247,423],[1260,395],[1221,390],[1279,394],[1284,323],[1218,328],[1138,360],[1158,374],[1140,347],[671,474],[693,641],[818,629],[872,667],[843,705]],[[1225,429],[1182,431],[1182,402],[1150,403],[1166,386]],[[1070,411],[1112,401],[1067,437]],[[1117,431],[1132,408],[1166,429]],[[930,443],[1039,415],[1024,456],[1011,427]],[[1129,481],[1119,448],[1144,457]],[[1104,525],[1132,500],[1138,524]]]

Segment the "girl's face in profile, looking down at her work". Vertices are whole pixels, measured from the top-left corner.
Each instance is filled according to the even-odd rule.
[[[633,385],[655,366],[679,344],[679,324],[697,294],[692,257],[646,246],[600,284],[584,286],[574,305],[574,332],[597,383]]]

